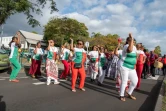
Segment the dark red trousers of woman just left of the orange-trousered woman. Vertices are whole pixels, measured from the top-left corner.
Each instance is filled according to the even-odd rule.
[[[66,60],[62,60],[62,63],[64,65],[64,71],[62,72],[60,78],[66,78],[67,75],[69,74],[70,64]]]

